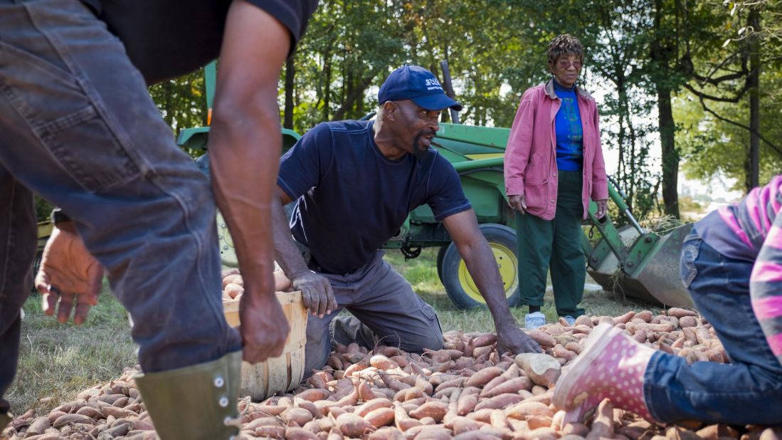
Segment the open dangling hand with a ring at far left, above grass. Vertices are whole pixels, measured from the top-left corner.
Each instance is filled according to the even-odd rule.
[[[55,227],[35,276],[45,314],[52,316],[57,308],[57,320],[66,323],[75,308],[74,323],[84,323],[90,308],[98,304],[102,281],[102,265],[87,251],[75,229]]]

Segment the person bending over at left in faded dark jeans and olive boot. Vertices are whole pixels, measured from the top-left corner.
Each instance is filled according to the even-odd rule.
[[[242,355],[279,355],[289,328],[272,276],[277,83],[316,4],[0,0],[0,397],[16,374],[38,193],[70,216],[55,218],[38,277],[48,313],[59,300],[64,322],[75,302],[83,321],[106,269],[160,438],[238,434]],[[147,85],[217,56],[210,188]],[[221,307],[216,204],[246,283],[241,333]],[[0,399],[0,429],[8,411]]]

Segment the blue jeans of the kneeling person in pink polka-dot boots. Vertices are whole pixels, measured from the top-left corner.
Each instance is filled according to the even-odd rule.
[[[653,417],[723,424],[782,423],[782,366],[766,343],[749,297],[752,261],[726,258],[693,229],[680,270],[698,312],[714,326],[730,364],[695,362],[657,352],[644,377]]]

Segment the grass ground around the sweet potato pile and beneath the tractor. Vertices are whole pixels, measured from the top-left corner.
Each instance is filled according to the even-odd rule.
[[[386,259],[436,309],[443,331],[493,331],[490,313],[485,308],[459,310],[450,302],[437,276],[436,251],[425,249],[419,258],[407,262],[400,252],[389,251]],[[546,295],[545,301],[542,311],[549,320],[556,319],[551,294]],[[655,310],[605,292],[586,292],[582,304],[587,313],[595,316],[618,316],[644,308]],[[123,367],[136,363],[136,347],[131,341],[127,315],[106,287],[99,304],[91,309],[82,326],[59,324],[56,319],[44,316],[37,294],[30,296],[24,312],[19,369],[5,395],[12,413],[23,413],[30,408],[39,414],[48,413],[61,402],[75,399],[78,391],[119,377]],[[523,322],[526,308],[515,308],[512,312]]]

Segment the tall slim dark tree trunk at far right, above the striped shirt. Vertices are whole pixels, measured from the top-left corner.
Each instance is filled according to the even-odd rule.
[[[759,186],[760,175],[760,13],[750,9],[748,25],[752,27],[749,38],[749,154],[747,164],[747,192]]]

